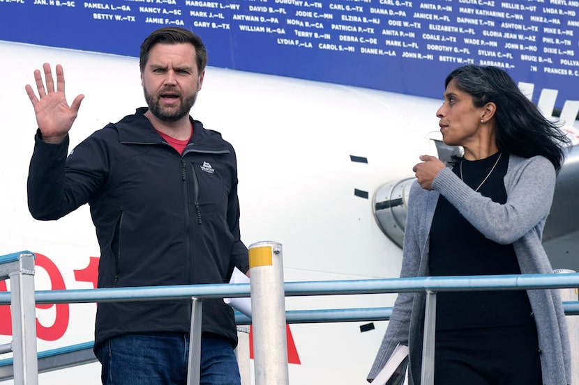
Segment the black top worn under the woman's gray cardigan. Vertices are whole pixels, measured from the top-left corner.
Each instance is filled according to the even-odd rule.
[[[453,166],[472,189],[486,178],[500,152],[486,159],[461,159]],[[503,154],[479,192],[497,203],[506,203],[504,175],[509,155]],[[453,205],[440,196],[430,228],[431,276],[520,274],[513,244],[497,244],[476,230]],[[532,311],[525,290],[439,292],[437,330],[529,324]]]

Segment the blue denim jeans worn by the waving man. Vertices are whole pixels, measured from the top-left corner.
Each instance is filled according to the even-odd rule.
[[[186,385],[187,333],[125,334],[100,343],[103,385]],[[201,340],[200,385],[241,385],[232,345],[222,338]]]

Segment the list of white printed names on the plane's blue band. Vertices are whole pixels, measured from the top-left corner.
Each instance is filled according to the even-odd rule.
[[[25,0],[0,0],[0,5],[8,1]],[[230,38],[243,42],[248,36],[263,52],[287,46],[284,49],[384,60],[474,61],[562,76],[574,73],[569,70],[571,62],[562,59],[575,54],[573,39],[579,33],[579,0],[184,0],[184,5],[178,0],[33,0],[33,4],[81,8],[98,23],[192,25],[205,34],[229,30]]]

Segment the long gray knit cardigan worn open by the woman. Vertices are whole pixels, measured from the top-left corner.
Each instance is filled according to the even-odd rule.
[[[433,190],[414,182],[410,189],[401,277],[428,276],[428,237],[439,194],[485,237],[513,244],[522,274],[552,273],[541,245],[543,227],[555,190],[555,168],[545,157],[511,155],[504,176],[507,201],[495,203],[474,191],[451,168],[433,181]],[[465,256],[468,251],[465,251]],[[539,334],[544,385],[571,384],[571,354],[565,315],[558,290],[527,290]],[[375,378],[398,343],[409,346],[409,384],[421,383],[425,296],[400,293],[388,328],[368,374]]]

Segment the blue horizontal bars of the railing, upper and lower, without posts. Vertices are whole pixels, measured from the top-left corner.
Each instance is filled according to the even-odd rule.
[[[442,292],[474,290],[535,290],[548,288],[579,288],[579,273],[521,274],[497,276],[437,276],[417,278],[382,278],[347,281],[288,282],[284,285],[286,297],[383,294],[396,292]],[[109,288],[86,290],[39,290],[37,304],[89,303],[106,301],[137,301],[160,299],[188,299],[197,297],[249,297],[250,284],[176,285],[139,288]],[[10,293],[0,293],[0,305],[10,304]],[[566,315],[579,315],[579,301],[563,302]],[[343,308],[286,311],[287,323],[354,322],[389,320],[392,308]],[[235,313],[237,324],[250,324],[246,315]],[[70,345],[39,352],[38,357],[61,354],[76,349],[87,349],[92,343]],[[12,364],[12,359],[0,360],[0,367]]]

